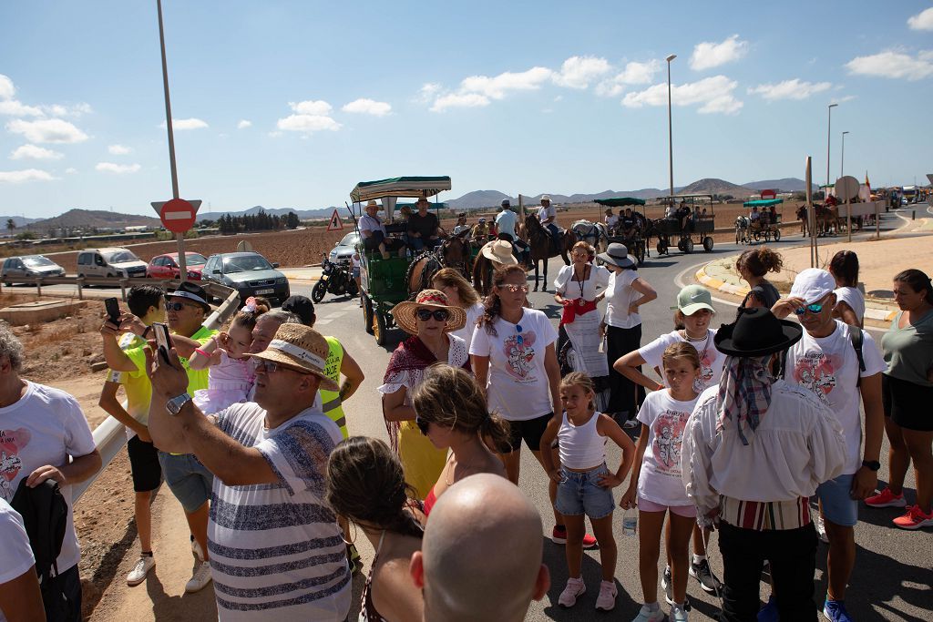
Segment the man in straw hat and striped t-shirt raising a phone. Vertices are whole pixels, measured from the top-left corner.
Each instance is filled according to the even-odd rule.
[[[350,572],[323,502],[327,456],[341,431],[313,408],[319,387],[338,390],[325,373],[327,341],[283,324],[251,356],[256,402],[205,417],[174,348],[153,355],[150,346],[149,430],[160,449],[194,453],[215,475],[208,541],[218,619],[343,620]]]

